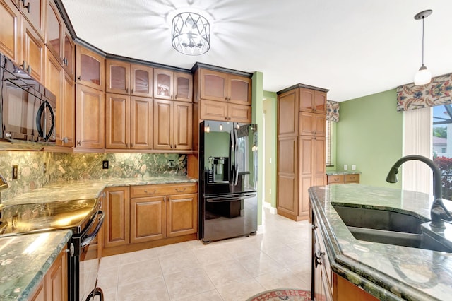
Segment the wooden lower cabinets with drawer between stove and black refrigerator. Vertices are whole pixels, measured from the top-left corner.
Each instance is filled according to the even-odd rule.
[[[198,184],[105,189],[102,256],[196,239]]]

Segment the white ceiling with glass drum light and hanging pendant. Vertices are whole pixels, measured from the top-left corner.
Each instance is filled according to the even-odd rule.
[[[343,101],[412,83],[424,64],[452,72],[450,0],[62,0],[76,34],[110,54],[191,69],[196,61],[263,73],[263,90],[296,83]],[[175,12],[205,11],[210,50],[171,45]]]

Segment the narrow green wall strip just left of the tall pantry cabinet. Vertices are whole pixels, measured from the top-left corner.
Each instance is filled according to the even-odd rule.
[[[263,92],[264,122],[264,152],[263,152],[263,200],[276,208],[276,126],[277,126],[278,95],[273,92]]]

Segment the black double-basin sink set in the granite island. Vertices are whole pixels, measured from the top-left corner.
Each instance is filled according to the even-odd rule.
[[[333,205],[357,240],[452,253],[429,235],[429,220],[396,211]]]

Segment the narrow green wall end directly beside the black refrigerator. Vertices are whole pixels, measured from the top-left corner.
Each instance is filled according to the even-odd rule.
[[[258,132],[258,152],[257,152],[257,170],[258,170],[258,187],[257,187],[257,199],[258,199],[258,225],[262,225],[262,196],[263,196],[263,155],[260,151],[263,148],[263,73],[256,71],[253,74],[253,87],[252,87],[252,112],[251,112],[251,120],[254,124],[257,124],[257,132]]]

